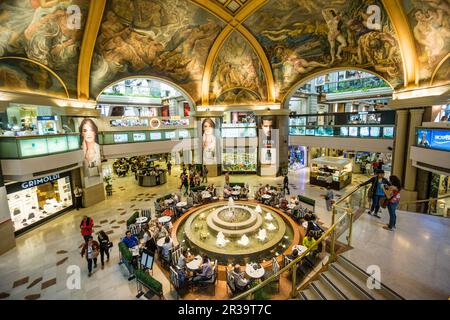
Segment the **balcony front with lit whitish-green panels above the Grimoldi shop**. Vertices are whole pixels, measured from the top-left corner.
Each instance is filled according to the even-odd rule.
[[[26,159],[80,149],[80,135],[0,137],[0,159]]]

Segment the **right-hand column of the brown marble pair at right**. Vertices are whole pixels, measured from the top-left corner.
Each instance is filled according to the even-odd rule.
[[[409,136],[405,161],[405,189],[407,191],[416,191],[417,168],[412,165],[410,155],[411,155],[411,146],[415,144],[416,127],[422,125],[422,117],[424,110],[412,109],[409,112],[410,112]]]

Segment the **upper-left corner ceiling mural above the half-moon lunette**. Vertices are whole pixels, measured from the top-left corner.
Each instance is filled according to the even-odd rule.
[[[68,10],[72,5],[80,9],[80,15]],[[44,64],[76,96],[79,52],[88,9],[88,0],[0,1],[0,57],[20,56]]]

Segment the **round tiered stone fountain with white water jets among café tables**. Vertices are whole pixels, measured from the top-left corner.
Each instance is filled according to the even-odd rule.
[[[270,260],[291,245],[292,221],[267,206],[214,203],[194,209],[175,226],[176,238],[195,254],[221,264]]]

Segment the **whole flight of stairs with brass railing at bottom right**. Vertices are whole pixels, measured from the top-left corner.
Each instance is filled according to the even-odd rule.
[[[300,300],[404,300],[400,295],[383,285],[380,289],[369,289],[366,285],[368,273],[343,256],[328,265],[328,270],[319,274],[299,292]]]

